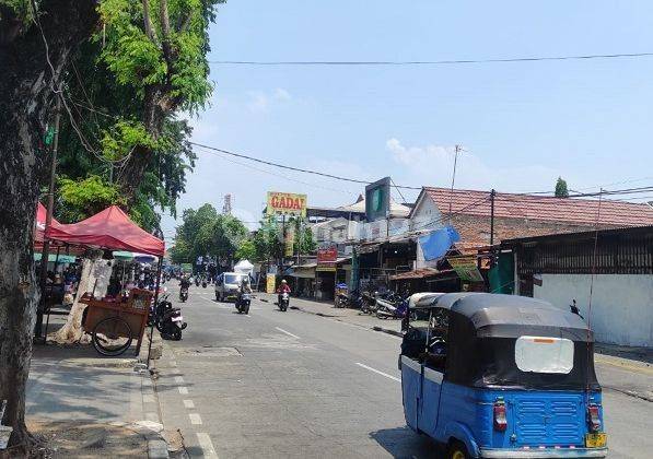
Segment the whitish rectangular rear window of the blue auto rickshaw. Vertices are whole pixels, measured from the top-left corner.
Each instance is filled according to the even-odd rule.
[[[573,368],[573,342],[563,338],[520,337],[515,363],[522,372],[569,374]]]

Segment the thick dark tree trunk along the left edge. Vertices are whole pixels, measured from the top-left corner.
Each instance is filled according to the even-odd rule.
[[[38,302],[33,235],[53,81],[60,81],[97,21],[91,0],[38,4],[43,30],[33,22],[19,25],[5,8],[0,12],[0,400],[8,400],[3,424],[14,428],[11,445],[30,443],[25,386]]]

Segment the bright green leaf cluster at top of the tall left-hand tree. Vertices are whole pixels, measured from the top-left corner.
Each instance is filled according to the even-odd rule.
[[[170,0],[165,15],[162,0],[149,0],[149,31],[143,2],[104,0],[98,11],[105,27],[94,37],[105,44],[100,59],[141,97],[149,86],[161,86],[173,104],[197,111],[212,90],[207,28],[218,3],[222,0]]]

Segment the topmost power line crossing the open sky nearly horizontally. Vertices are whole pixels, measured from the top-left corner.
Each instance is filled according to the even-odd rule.
[[[590,59],[623,59],[652,57],[653,52],[618,52],[606,55],[578,55],[578,56],[535,56],[495,59],[453,59],[453,60],[210,60],[209,63],[219,66],[328,66],[328,67],[363,67],[363,66],[459,66],[474,63],[510,63],[510,62],[541,62],[561,60],[590,60]]]

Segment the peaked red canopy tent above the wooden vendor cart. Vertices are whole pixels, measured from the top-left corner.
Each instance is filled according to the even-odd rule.
[[[162,257],[165,243],[129,220],[112,205],[79,223],[51,225],[45,236],[55,242],[110,250],[139,251]]]

